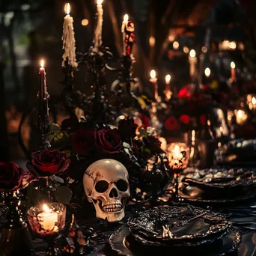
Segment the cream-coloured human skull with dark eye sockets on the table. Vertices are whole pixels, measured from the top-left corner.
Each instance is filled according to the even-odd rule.
[[[109,222],[124,218],[129,198],[128,171],[121,162],[101,159],[85,171],[83,184],[88,201],[94,204],[96,216]]]

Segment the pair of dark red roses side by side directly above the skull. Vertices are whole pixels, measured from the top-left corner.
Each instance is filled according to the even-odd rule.
[[[80,128],[72,136],[73,149],[82,156],[87,156],[94,148],[103,154],[118,153],[121,145],[118,131],[108,127],[94,132],[89,128]]]

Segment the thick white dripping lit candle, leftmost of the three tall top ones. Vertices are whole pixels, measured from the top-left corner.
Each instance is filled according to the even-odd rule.
[[[63,23],[63,34],[62,41],[64,54],[62,55],[62,67],[65,66],[65,61],[68,61],[71,67],[77,67],[76,63],[76,40],[73,28],[73,17],[70,16],[70,4],[66,4],[65,12],[67,13],[64,17]]]

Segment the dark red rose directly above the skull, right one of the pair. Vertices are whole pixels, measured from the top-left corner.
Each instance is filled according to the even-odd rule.
[[[122,145],[118,131],[110,128],[95,131],[94,143],[101,153],[118,153]]]

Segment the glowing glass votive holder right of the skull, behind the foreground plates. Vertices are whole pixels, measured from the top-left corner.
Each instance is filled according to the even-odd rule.
[[[183,158],[183,154],[181,152],[186,152],[186,157]],[[180,169],[184,169],[187,167],[189,163],[189,147],[186,145],[186,143],[183,142],[173,142],[171,144],[167,145],[166,150],[168,160],[169,160],[169,166],[172,169],[175,169],[176,166],[179,166]],[[180,166],[179,160],[182,160],[182,165]],[[177,165],[175,165],[175,163]]]

